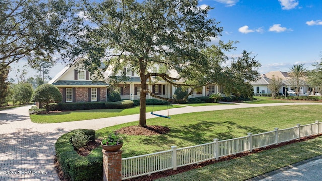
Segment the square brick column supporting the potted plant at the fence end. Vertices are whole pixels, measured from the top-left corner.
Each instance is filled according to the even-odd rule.
[[[103,152],[103,180],[119,181],[122,180],[122,151]]]

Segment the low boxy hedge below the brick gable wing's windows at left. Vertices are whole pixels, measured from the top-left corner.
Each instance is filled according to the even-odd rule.
[[[58,110],[105,109],[105,102],[57,103]]]

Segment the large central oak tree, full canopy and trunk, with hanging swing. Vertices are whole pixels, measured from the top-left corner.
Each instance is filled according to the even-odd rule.
[[[131,65],[141,78],[139,126],[146,126],[146,93],[157,97],[147,86],[151,77],[174,86],[190,87],[189,95],[195,88],[222,84],[227,77],[235,78],[240,84],[257,72],[259,63],[246,51],[235,64],[224,66],[228,60],[224,51],[235,49],[234,42],[220,41],[209,46],[210,40],[218,38],[223,28],[214,18],[208,18],[212,8],[203,9],[196,0],[105,0],[101,3],[84,0],[81,8],[70,33],[73,48],[66,53],[66,58],[83,57],[90,72],[99,74],[109,68],[113,72],[111,77]],[[105,67],[101,66],[102,61]],[[171,77],[169,71],[148,71],[155,65],[175,70],[178,76]],[[178,84],[178,80],[183,84]]]

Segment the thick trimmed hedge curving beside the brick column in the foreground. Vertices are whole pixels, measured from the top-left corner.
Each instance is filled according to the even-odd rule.
[[[89,136],[90,141],[95,140],[95,130],[78,129],[63,134],[55,144],[56,156],[64,176],[75,181],[102,180],[103,155],[101,148],[92,150],[86,157],[78,155],[71,139],[79,131]]]

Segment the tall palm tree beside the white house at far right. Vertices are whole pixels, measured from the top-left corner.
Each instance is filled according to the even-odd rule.
[[[300,92],[301,79],[307,75],[308,70],[304,68],[304,64],[293,65],[292,68],[288,71],[289,76],[291,77],[290,81],[295,86],[295,93],[298,99]]]

